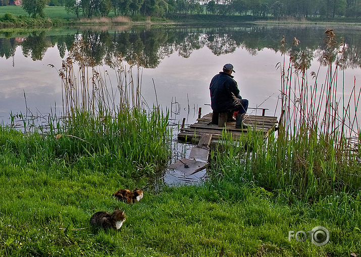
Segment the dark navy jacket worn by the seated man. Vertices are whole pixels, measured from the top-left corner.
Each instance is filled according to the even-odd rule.
[[[232,75],[220,72],[210,84],[211,107],[216,112],[228,112],[234,109],[232,93],[238,97],[239,89]]]

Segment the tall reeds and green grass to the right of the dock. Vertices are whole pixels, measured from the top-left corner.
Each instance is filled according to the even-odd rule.
[[[289,59],[283,52],[279,63],[282,113],[277,137],[263,140],[263,135],[249,133],[237,149],[226,145],[229,154],[216,156],[213,175],[236,183],[251,181],[286,201],[326,201],[342,192],[351,197],[352,206],[359,205],[360,89],[354,84],[350,96],[344,93],[342,45],[336,44],[332,30],[326,31],[322,64],[311,73],[313,82],[307,78],[310,54],[297,51],[298,43],[295,38]],[[319,83],[323,69],[325,80]],[[359,219],[359,213],[356,216]]]

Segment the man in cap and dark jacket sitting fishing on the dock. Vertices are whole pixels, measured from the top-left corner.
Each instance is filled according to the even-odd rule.
[[[213,77],[210,84],[211,107],[213,115],[227,112],[227,121],[236,121],[237,128],[246,129],[247,125],[243,123],[243,117],[247,112],[248,100],[242,99],[239,95],[238,85],[233,79],[232,72],[235,72],[233,65],[227,63],[223,66],[223,72]],[[233,117],[234,112],[238,112],[236,119]]]

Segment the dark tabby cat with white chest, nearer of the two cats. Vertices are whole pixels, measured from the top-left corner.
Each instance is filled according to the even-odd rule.
[[[94,213],[90,218],[90,224],[94,227],[120,229],[125,221],[124,212],[117,208],[112,214],[107,212]]]

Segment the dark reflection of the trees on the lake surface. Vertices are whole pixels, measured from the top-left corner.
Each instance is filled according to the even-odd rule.
[[[307,27],[233,27],[233,28],[155,28],[129,29],[126,31],[77,31],[70,35],[46,36],[45,32],[32,32],[25,38],[0,38],[0,56],[14,56],[17,45],[22,53],[33,60],[41,60],[49,47],[57,45],[63,58],[74,41],[81,37],[87,47],[84,54],[92,59],[89,66],[113,66],[114,60],[122,57],[128,63],[144,68],[157,68],[162,59],[173,53],[188,58],[196,49],[209,48],[213,54],[246,49],[251,55],[264,48],[280,50],[282,37],[287,44],[286,52],[292,49],[293,37],[300,40],[299,56],[307,56],[307,66],[322,56],[324,32],[321,26]],[[361,66],[361,34],[352,29],[335,29],[337,41],[344,42],[345,68]],[[7,35],[9,36],[9,35]],[[91,58],[90,58],[91,57]]]

